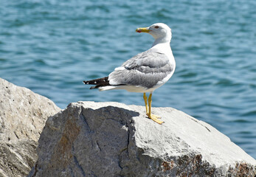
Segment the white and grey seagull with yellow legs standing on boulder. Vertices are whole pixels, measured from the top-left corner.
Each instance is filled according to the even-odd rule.
[[[150,27],[137,28],[136,32],[146,32],[153,36],[150,49],[125,61],[114,69],[108,77],[95,80],[84,80],[84,84],[95,85],[90,89],[100,91],[125,89],[131,92],[144,93],[146,115],[149,119],[162,124],[158,117],[151,113],[153,91],[163,86],[172,77],[176,67],[173,52],[170,48],[172,32],[166,24],[157,23]],[[147,97],[146,93],[150,93]]]

